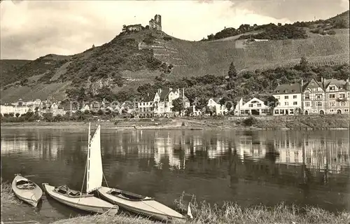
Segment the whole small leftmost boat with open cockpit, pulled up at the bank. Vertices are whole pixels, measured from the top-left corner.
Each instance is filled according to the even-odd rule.
[[[20,200],[34,207],[38,206],[38,202],[43,196],[43,190],[36,183],[29,181],[21,174],[15,174],[15,178],[12,181],[12,191]]]

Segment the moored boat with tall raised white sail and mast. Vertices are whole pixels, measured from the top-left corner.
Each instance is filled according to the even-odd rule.
[[[102,155],[101,155],[101,139],[100,139],[100,126],[97,127],[94,136],[90,140],[90,123],[89,123],[89,140],[87,149],[87,166],[86,172],[86,192],[71,190],[68,186],[50,186],[48,183],[43,183],[43,188],[50,197],[54,198],[58,202],[81,209],[83,211],[93,212],[97,214],[110,211],[116,214],[119,207],[106,202],[105,200],[94,197],[94,192],[102,186]],[[85,174],[84,174],[85,180]],[[83,181],[84,185],[84,181]]]

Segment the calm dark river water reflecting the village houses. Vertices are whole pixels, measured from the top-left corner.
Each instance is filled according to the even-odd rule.
[[[102,154],[109,186],[169,207],[184,191],[200,201],[242,207],[285,202],[350,211],[348,130],[102,130]],[[83,130],[1,130],[5,181],[22,173],[39,185],[80,190],[86,158]],[[78,214],[46,197],[29,212],[43,223]]]

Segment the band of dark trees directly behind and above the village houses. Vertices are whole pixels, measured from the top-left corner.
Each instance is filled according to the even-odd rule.
[[[179,78],[177,80],[168,80],[167,75],[155,77],[153,83],[146,83],[139,87],[119,92],[112,92],[108,87],[99,90],[98,94],[93,95],[90,90],[80,88],[77,90],[68,90],[69,99],[79,102],[106,99],[109,102],[145,100],[153,101],[153,97],[159,88],[165,87],[185,88],[186,97],[191,104],[195,103],[197,109],[207,106],[207,102],[212,97],[222,97],[225,101],[236,102],[237,98],[268,99],[273,90],[279,84],[304,83],[316,78],[337,78],[346,80],[349,77],[349,64],[333,66],[311,66],[306,58],[302,58],[300,63],[290,68],[276,68],[267,70],[243,71],[238,73],[235,68],[235,62],[232,62],[228,68],[227,76],[216,76],[207,74],[204,76],[192,76]],[[181,90],[182,91],[182,90]],[[151,97],[151,99],[150,99]]]

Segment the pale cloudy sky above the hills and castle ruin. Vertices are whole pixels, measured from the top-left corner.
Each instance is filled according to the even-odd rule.
[[[162,30],[200,41],[224,27],[327,19],[349,10],[348,0],[280,1],[11,1],[0,3],[1,59],[73,55],[111,41],[123,25],[148,25],[162,15]]]

